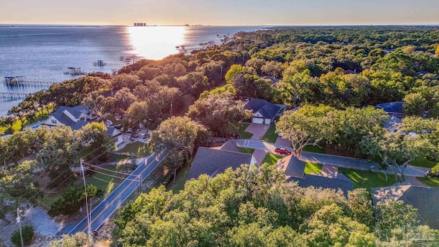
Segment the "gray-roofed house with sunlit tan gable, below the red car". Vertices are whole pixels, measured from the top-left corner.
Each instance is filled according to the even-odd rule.
[[[305,163],[293,155],[286,156],[277,162],[277,168],[285,171],[287,182],[297,182],[299,187],[316,187],[322,189],[341,189],[346,196],[354,189],[354,183],[343,174],[334,177],[305,175]]]

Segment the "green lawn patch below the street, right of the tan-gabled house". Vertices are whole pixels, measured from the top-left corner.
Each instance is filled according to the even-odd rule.
[[[395,183],[395,177],[393,174],[388,174],[388,181],[385,181],[385,175],[381,172],[368,172],[357,169],[347,169],[339,167],[338,172],[346,175],[353,180],[354,189],[366,188],[370,191],[370,188],[386,187]]]

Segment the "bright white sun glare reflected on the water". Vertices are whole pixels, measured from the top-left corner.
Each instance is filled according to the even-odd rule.
[[[177,54],[183,43],[185,27],[127,27],[134,54],[147,59],[162,59]]]

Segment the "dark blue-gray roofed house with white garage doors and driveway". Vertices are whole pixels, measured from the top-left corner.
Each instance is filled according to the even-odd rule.
[[[252,110],[252,123],[254,124],[273,124],[281,111],[280,106],[276,106],[264,99],[252,99],[247,102],[246,110]]]

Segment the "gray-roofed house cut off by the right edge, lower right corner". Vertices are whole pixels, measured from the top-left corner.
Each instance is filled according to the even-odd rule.
[[[439,229],[439,189],[414,185],[395,185],[372,188],[372,199],[376,205],[384,200],[402,200],[405,204],[418,209],[420,224]]]

